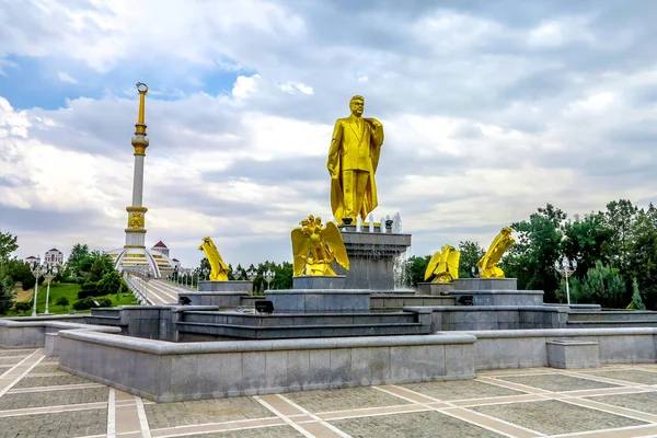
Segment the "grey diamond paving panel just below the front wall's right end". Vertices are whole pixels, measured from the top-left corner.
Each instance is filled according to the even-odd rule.
[[[476,380],[410,383],[400,384],[399,387],[445,401],[523,394],[523,392],[520,391],[495,387],[494,384],[488,384]]]

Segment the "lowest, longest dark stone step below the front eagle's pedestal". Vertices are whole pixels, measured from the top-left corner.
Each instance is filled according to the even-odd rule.
[[[351,325],[283,325],[251,326],[233,324],[208,324],[178,322],[176,328],[184,333],[208,337],[233,337],[247,339],[285,339],[308,337],[351,337],[351,336],[404,336],[429,334],[430,325],[420,323],[400,324],[351,324]]]

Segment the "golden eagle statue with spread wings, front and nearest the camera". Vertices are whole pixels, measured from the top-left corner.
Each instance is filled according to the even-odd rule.
[[[342,234],[335,222],[322,227],[322,218],[312,215],[292,230],[292,254],[295,276],[334,276],[333,261],[349,269],[349,257]]]

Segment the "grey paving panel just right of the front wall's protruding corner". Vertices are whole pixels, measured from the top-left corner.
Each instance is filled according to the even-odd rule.
[[[151,428],[272,417],[253,397],[228,397],[143,406]]]

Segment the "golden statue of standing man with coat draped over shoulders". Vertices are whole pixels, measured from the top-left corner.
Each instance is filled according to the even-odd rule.
[[[365,220],[379,204],[374,173],[383,145],[383,125],[376,118],[362,117],[362,96],[351,97],[349,108],[350,116],[335,122],[326,166],[333,216],[337,221],[355,222],[359,215]]]

